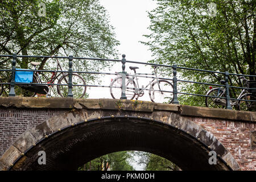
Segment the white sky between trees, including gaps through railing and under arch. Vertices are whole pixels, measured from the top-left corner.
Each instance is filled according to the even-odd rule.
[[[156,3],[152,0],[100,0],[101,5],[105,7],[110,16],[110,24],[115,27],[115,34],[117,40],[121,43],[118,46],[120,58],[122,54],[126,55],[126,60],[146,62],[151,57],[151,52],[148,47],[139,43],[139,41],[146,41],[143,34],[149,34],[147,27],[150,25],[150,19],[147,17],[146,11],[155,9]],[[129,66],[126,64],[126,72],[131,73]],[[151,73],[150,67],[144,65],[136,65],[138,73]],[[110,72],[121,72],[122,65],[117,63]],[[110,85],[110,79],[115,76],[104,76],[101,85]],[[149,80],[141,80],[142,85],[148,84]],[[141,86],[141,85],[140,85]],[[112,98],[110,96],[109,88],[90,88],[88,91],[89,98]],[[103,93],[103,94],[102,94]],[[148,100],[148,92],[139,100]],[[138,159],[135,156],[135,159]],[[138,166],[137,163],[131,163],[136,170],[142,170],[143,166]]]

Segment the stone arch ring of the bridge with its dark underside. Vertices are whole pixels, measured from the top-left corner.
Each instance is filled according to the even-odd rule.
[[[46,151],[47,164],[38,164]],[[151,152],[184,170],[240,170],[213,134],[175,111],[73,109],[26,131],[0,159],[2,170],[75,170],[123,150]],[[208,163],[209,151],[217,164]]]

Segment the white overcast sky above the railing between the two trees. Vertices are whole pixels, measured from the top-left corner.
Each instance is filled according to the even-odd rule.
[[[118,50],[125,53],[129,60],[147,61],[151,59],[151,53],[147,47],[139,43],[146,40],[143,34],[149,31],[150,19],[146,11],[156,7],[152,0],[100,0],[101,5],[108,10],[110,23],[115,27],[117,40],[121,45]]]

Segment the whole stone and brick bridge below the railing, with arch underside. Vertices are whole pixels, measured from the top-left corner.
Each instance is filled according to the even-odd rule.
[[[76,170],[115,151],[183,170],[255,170],[256,113],[130,100],[0,97],[1,170]],[[46,164],[38,164],[39,151]],[[209,164],[210,151],[217,164]]]

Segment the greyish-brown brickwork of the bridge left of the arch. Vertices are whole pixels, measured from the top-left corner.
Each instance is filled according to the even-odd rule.
[[[24,131],[35,127],[63,109],[0,109],[0,156]]]

